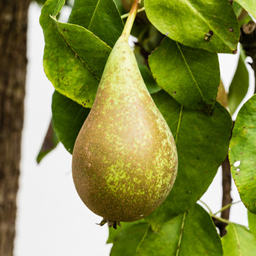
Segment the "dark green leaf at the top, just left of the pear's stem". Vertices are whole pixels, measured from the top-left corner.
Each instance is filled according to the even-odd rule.
[[[68,22],[92,31],[111,47],[124,29],[113,0],[75,0]]]

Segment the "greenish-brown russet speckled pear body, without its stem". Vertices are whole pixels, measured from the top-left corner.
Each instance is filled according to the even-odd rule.
[[[106,220],[136,221],[163,203],[176,174],[172,132],[120,36],[74,146],[77,193]]]

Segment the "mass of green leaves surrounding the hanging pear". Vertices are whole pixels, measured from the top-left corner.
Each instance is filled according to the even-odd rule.
[[[56,90],[52,136],[58,136],[71,154],[109,53],[124,28],[120,13],[127,12],[131,2],[75,0],[67,22],[58,20],[65,0],[48,0],[42,8],[44,69]],[[108,243],[114,244],[111,255],[254,255],[255,96],[239,111],[230,140],[230,113],[248,91],[243,50],[228,92],[230,113],[220,104],[226,103],[216,98],[218,90],[218,99],[226,97],[225,90],[220,90],[217,53],[237,52],[239,26],[245,22],[240,15],[244,8],[255,17],[256,3],[145,0],[144,4],[145,12],[138,13],[132,28],[138,40],[134,53],[148,92],[172,130],[179,169],[170,195],[155,212],[141,221],[122,223],[122,230],[109,230]],[[229,223],[227,235],[220,239],[210,214],[196,202],[211,184],[228,148],[233,179],[250,211],[250,230]]]

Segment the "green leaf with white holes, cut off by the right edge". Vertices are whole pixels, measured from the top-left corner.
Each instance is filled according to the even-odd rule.
[[[256,213],[256,95],[240,109],[230,141],[231,172],[245,207]]]

